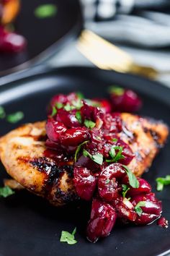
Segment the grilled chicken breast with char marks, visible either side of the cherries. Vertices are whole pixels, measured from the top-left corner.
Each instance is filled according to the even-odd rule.
[[[120,138],[135,153],[129,168],[140,176],[151,166],[158,149],[164,145],[168,128],[161,121],[121,114],[124,123]],[[25,124],[0,139],[0,157],[6,171],[19,184],[49,200],[63,205],[79,199],[73,185],[73,167],[60,166],[44,156],[45,121]]]

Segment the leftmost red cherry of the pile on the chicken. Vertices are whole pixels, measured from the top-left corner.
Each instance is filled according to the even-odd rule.
[[[54,119],[48,119],[45,128],[48,138],[53,142],[59,142],[60,136],[66,132],[65,125],[59,121],[55,121]]]

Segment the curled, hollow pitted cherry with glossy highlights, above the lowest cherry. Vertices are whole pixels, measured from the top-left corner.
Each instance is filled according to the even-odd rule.
[[[121,179],[123,176],[125,176],[125,171],[120,163],[112,163],[104,168],[98,178],[99,196],[107,202],[116,199],[120,191],[117,179]]]

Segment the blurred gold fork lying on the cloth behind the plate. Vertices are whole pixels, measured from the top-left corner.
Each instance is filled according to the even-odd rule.
[[[86,56],[89,61],[100,69],[140,74],[151,79],[155,79],[159,74],[153,67],[144,67],[135,64],[129,54],[90,30],[84,30],[81,33],[77,48],[81,54]]]

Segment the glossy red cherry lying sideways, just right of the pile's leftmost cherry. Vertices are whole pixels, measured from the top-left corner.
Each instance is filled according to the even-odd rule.
[[[89,140],[89,132],[85,127],[71,128],[61,134],[61,145],[64,146],[78,146],[86,140]]]

